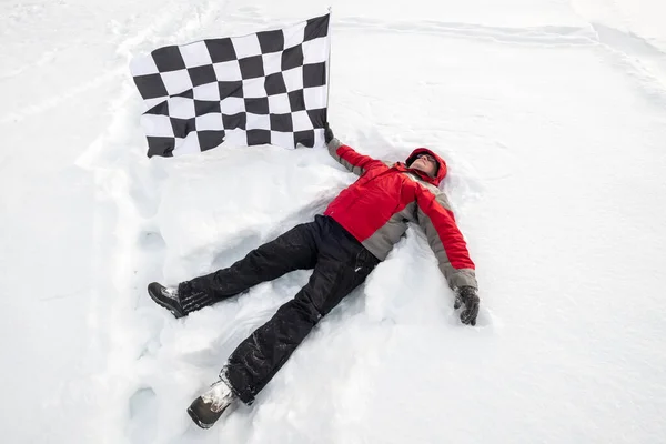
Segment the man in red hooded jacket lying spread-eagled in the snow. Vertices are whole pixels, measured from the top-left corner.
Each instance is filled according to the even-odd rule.
[[[424,230],[455,292],[454,307],[464,305],[461,321],[476,324],[480,299],[474,263],[448,201],[437,189],[446,175],[444,160],[426,148],[414,150],[405,163],[375,160],[342,144],[327,125],[325,141],[331,155],[360,178],[323,215],[294,226],[228,269],[182,282],[178,289],[157,282],[148,286],[158,304],[182,317],[291,271],[314,269],[307,284],[235,349],[220,380],[192,402],[188,413],[200,427],[212,426],[235,400],[252,403],[321,317],[386,258],[407,230],[407,221]]]

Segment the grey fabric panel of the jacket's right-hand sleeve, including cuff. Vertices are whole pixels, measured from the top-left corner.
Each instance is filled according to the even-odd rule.
[[[450,209],[448,200],[446,195],[437,190],[438,193],[436,195],[436,201],[442,206]],[[446,283],[452,290],[455,290],[460,286],[473,286],[474,289],[478,287],[476,283],[476,274],[472,269],[454,269],[451,265],[451,261],[448,260],[448,255],[446,254],[446,250],[444,250],[444,244],[442,244],[442,240],[435,230],[431,219],[421,210],[420,206],[416,206],[416,219],[418,221],[418,225],[425,233],[425,238],[427,239],[427,243],[431,249],[435,253],[435,258],[440,263],[440,271],[446,279]]]

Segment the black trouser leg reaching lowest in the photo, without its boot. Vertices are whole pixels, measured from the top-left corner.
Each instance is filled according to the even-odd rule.
[[[222,379],[244,403],[254,400],[319,320],[380,262],[355,240],[331,233],[331,226],[326,235],[307,284],[243,341],[222,370]]]

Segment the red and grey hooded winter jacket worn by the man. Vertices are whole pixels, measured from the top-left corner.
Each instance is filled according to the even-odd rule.
[[[437,160],[435,178],[407,167],[422,152]],[[359,154],[337,139],[329,143],[329,153],[360,178],[329,204],[325,215],[382,261],[407,230],[407,222],[417,223],[448,285],[477,287],[465,240],[446,195],[437,188],[446,175],[442,158],[426,148],[417,148],[405,163],[385,162]]]

